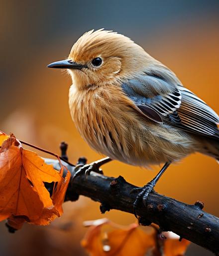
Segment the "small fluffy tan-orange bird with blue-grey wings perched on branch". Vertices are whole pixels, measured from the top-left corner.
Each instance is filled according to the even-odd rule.
[[[171,163],[194,152],[219,160],[219,116],[165,65],[130,38],[104,29],[83,34],[68,59],[53,62],[72,77],[69,106],[81,136],[103,161],[149,167],[164,164],[134,202],[134,214]]]

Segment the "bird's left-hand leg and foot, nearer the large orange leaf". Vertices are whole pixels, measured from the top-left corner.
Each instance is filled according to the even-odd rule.
[[[93,171],[96,173],[103,174],[103,171],[100,169],[100,167],[108,162],[110,162],[111,159],[109,157],[105,157],[103,159],[97,160],[91,164],[86,165],[76,165],[75,167],[75,175],[73,176],[73,179],[77,177],[80,174],[85,174],[85,179],[87,179],[87,176]]]

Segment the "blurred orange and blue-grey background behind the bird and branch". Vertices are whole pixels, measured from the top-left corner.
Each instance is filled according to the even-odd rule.
[[[72,163],[101,158],[82,140],[68,107],[70,77],[46,65],[61,60],[79,36],[90,29],[114,30],[140,44],[170,67],[183,84],[219,112],[218,0],[0,0],[0,130],[59,154],[69,144]],[[48,155],[38,152],[41,156]],[[153,171],[113,161],[105,175],[123,176],[143,186]],[[172,165],[156,191],[188,204],[205,203],[219,216],[219,166],[195,154]],[[83,221],[107,217],[115,223],[135,222],[133,215],[112,210],[102,216],[99,203],[80,197],[64,204],[64,215],[49,227],[24,225],[9,234],[0,223],[1,256],[85,256],[80,247]],[[191,245],[187,256],[211,256]]]

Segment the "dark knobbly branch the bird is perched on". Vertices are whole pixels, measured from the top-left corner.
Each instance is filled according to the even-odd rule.
[[[57,160],[46,159],[46,163],[60,168]],[[67,166],[74,174],[74,167]],[[136,193],[130,193],[134,185],[127,183],[121,176],[114,179],[94,172],[85,181],[79,176],[70,182],[66,201],[75,201],[79,195],[101,203],[104,213],[116,209],[133,214],[133,203]],[[219,256],[219,218],[202,210],[204,204],[196,202],[188,205],[175,199],[152,192],[147,200],[137,208],[137,215],[144,225],[155,223],[163,231],[172,231],[197,245],[212,251]]]

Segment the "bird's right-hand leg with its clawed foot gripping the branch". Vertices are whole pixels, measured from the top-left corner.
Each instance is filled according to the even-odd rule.
[[[148,182],[146,185],[144,185],[144,187],[142,188],[136,188],[133,189],[131,191],[140,191],[134,201],[133,204],[133,208],[134,208],[134,216],[137,218],[136,215],[136,208],[137,205],[139,204],[139,202],[142,200],[143,204],[146,204],[146,200],[148,198],[148,195],[151,193],[151,191],[153,190],[153,188],[155,187],[156,183],[158,182],[158,180],[160,179],[160,177],[163,175],[163,173],[166,171],[166,169],[169,167],[171,163],[170,162],[166,162],[166,164],[162,167],[162,169],[159,171],[159,173],[153,178],[153,180],[151,180],[150,182]]]

